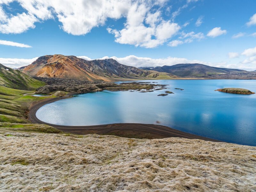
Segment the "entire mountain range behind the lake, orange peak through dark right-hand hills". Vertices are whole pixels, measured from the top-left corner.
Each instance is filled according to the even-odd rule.
[[[217,68],[199,63],[157,67],[131,67],[114,59],[84,60],[76,56],[45,55],[20,71],[37,77],[58,77],[84,81],[129,79],[173,79],[183,77],[254,79],[255,74],[240,69]]]

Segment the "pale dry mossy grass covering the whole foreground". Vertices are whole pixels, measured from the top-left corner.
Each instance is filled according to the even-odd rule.
[[[0,191],[256,191],[256,147],[2,132]]]

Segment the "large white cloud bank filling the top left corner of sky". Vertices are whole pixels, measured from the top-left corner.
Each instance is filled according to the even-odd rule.
[[[8,4],[13,0],[0,4]],[[0,6],[0,31],[2,33],[22,33],[35,28],[35,22],[57,18],[61,28],[72,35],[84,35],[93,27],[104,24],[108,19],[118,19],[125,15],[131,0],[17,0],[27,13],[12,15]]]

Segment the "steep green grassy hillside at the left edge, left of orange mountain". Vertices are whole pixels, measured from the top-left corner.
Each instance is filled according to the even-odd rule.
[[[19,70],[0,64],[0,85],[21,90],[36,90],[45,83],[28,76]]]

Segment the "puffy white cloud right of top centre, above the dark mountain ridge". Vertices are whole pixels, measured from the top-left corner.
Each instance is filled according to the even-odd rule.
[[[160,11],[151,13],[149,10],[148,5],[133,4],[127,13],[125,28],[107,28],[108,32],[115,36],[117,43],[153,48],[163,44],[180,30],[177,23],[164,20]]]

